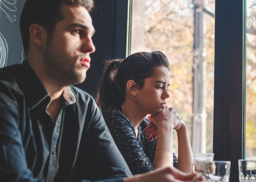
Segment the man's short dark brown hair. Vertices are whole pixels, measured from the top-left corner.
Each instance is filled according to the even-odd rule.
[[[25,56],[29,52],[29,27],[38,24],[47,31],[51,39],[56,24],[64,18],[61,12],[61,5],[81,5],[88,12],[94,7],[93,0],[26,0],[20,16],[20,32]]]

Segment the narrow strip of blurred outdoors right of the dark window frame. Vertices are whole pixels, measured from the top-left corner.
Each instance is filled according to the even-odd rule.
[[[256,159],[256,1],[246,0],[245,159]]]

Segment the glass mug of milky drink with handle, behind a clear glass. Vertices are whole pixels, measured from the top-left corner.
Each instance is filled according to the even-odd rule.
[[[202,173],[204,175],[204,163],[212,162],[214,154],[212,153],[193,153],[194,161],[191,163],[191,173]]]

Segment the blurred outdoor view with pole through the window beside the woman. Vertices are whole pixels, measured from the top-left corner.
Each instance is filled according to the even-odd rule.
[[[194,153],[212,153],[214,14],[215,0],[132,2],[131,54],[159,50],[169,59],[167,105],[184,116]]]

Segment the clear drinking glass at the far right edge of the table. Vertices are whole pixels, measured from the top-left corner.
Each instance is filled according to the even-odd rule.
[[[256,161],[238,160],[239,182],[256,182]]]

